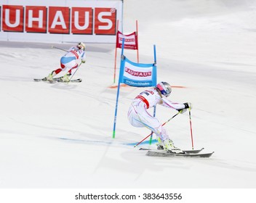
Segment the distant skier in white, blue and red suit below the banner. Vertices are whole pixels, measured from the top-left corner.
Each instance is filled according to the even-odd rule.
[[[85,55],[85,44],[80,42],[76,46],[72,46],[68,49],[67,53],[61,57],[60,59],[60,68],[53,70],[46,78],[43,80],[54,80],[54,76],[68,70],[66,74],[60,78],[63,82],[69,82],[69,77],[72,75],[73,70],[79,67],[77,61],[81,60],[81,63],[85,62],[86,55]]]

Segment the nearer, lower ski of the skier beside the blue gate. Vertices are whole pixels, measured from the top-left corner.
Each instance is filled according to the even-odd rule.
[[[209,153],[184,153],[184,154],[176,154],[172,152],[165,152],[165,151],[159,151],[159,150],[148,150],[148,152],[145,154],[149,157],[204,157],[208,158],[211,157],[214,152]]]

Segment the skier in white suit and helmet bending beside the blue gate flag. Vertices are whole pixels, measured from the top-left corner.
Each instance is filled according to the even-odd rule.
[[[172,87],[166,82],[158,83],[155,88],[150,88],[141,92],[132,101],[127,116],[131,125],[137,128],[145,127],[153,131],[153,133],[156,133],[160,148],[174,153],[183,153],[182,150],[174,146],[167,134],[167,130],[162,127],[160,121],[147,111],[147,109],[155,107],[156,104],[181,111],[181,113],[185,112],[186,109],[191,108],[191,103],[188,102],[183,104],[169,101],[167,96],[169,96],[171,92]]]

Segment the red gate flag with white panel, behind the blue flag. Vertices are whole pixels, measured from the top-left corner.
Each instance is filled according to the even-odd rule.
[[[133,50],[138,49],[137,33],[136,32],[131,33],[129,35],[124,35],[120,31],[117,31],[117,33],[116,33],[116,48],[121,49],[123,38],[124,38],[124,49],[133,49]]]

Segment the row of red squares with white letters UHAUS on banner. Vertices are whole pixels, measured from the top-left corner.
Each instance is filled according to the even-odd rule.
[[[116,9],[2,5],[2,30],[27,33],[116,35]]]

